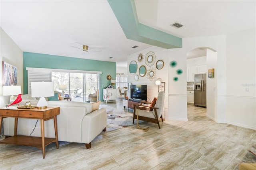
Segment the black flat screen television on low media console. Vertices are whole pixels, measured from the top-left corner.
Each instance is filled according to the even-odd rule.
[[[131,98],[147,101],[147,85],[131,85]]]

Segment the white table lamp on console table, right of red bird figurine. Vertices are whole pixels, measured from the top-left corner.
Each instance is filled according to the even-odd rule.
[[[45,109],[48,106],[44,97],[54,96],[54,82],[31,82],[31,96],[40,97],[37,107]]]

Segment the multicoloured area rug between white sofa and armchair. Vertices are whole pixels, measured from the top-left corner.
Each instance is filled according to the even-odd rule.
[[[100,108],[101,107],[106,108],[107,110],[106,113],[108,114],[106,131],[112,131],[119,128],[124,128],[124,127],[137,124],[137,120],[134,120],[134,124],[132,123],[133,113],[128,113],[128,112],[125,112],[124,110],[116,109],[108,105],[100,105]],[[139,121],[139,123],[142,123],[142,122],[144,121]]]

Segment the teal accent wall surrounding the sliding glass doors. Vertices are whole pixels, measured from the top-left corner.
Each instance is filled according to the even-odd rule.
[[[102,71],[102,74],[100,74],[99,88],[101,101],[103,101],[102,89],[105,88],[105,85],[107,86],[110,84],[110,80],[107,80],[106,78],[107,75],[111,75],[112,78],[116,79],[115,62],[23,52],[23,94],[28,94],[28,71],[26,71],[26,67]]]

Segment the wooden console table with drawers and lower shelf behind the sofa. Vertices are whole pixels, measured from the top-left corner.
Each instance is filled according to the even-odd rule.
[[[34,146],[42,150],[43,158],[45,157],[45,146],[52,142],[56,142],[58,149],[58,129],[57,115],[60,114],[60,107],[48,107],[46,109],[17,109],[16,107],[8,107],[0,109],[0,130],[2,127],[2,119],[5,117],[14,117],[14,136],[8,137],[0,141],[0,144],[17,144],[25,146]],[[18,118],[40,119],[42,137],[17,135]],[[44,121],[54,119],[55,138],[44,137]]]

